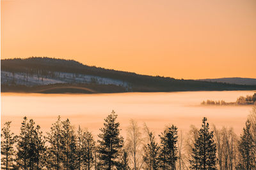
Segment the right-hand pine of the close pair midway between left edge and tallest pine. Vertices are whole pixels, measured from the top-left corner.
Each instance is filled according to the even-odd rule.
[[[74,132],[74,127],[70,124],[70,121],[65,120],[61,122],[61,139],[60,139],[60,148],[61,153],[61,162],[65,169],[76,169],[76,134]]]

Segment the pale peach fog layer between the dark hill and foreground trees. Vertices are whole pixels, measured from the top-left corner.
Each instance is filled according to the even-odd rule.
[[[234,127],[237,134],[243,129],[252,106],[201,106],[202,101],[211,99],[226,102],[236,101],[239,96],[252,95],[254,91],[222,92],[161,92],[124,94],[1,94],[1,125],[12,120],[12,131],[19,134],[20,123],[26,115],[33,118],[42,131],[49,131],[58,115],[62,120],[69,118],[78,127],[87,127],[94,136],[99,134],[104,118],[115,110],[125,136],[132,118],[156,132],[164,126],[174,124],[186,133],[189,125],[200,127],[202,118],[207,117],[210,126]]]

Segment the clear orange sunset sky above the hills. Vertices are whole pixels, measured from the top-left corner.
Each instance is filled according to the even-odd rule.
[[[1,59],[256,78],[255,0],[1,0]]]

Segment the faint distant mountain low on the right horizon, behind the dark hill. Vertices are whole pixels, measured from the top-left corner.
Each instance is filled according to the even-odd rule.
[[[230,83],[237,85],[256,85],[256,78],[213,78],[213,79],[199,79],[199,81],[210,81],[210,82],[220,82],[220,83]]]

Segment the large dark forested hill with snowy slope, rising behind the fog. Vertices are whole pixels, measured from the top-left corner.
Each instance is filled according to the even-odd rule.
[[[86,66],[75,60],[49,57],[1,60],[2,92],[173,92],[255,89],[256,85],[147,76]]]

